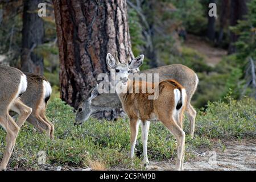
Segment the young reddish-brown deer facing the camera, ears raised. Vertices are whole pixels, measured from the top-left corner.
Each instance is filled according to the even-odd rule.
[[[183,113],[186,105],[186,91],[175,80],[160,81],[159,84],[152,84],[146,81],[134,81],[129,79],[129,73],[132,69],[139,68],[143,63],[144,55],[135,59],[126,60],[120,63],[119,60],[108,53],[106,63],[110,69],[115,69],[115,74],[120,79],[115,80],[115,89],[121,88],[122,92],[117,92],[119,100],[122,103],[123,110],[130,119],[131,129],[131,158],[134,157],[134,149],[138,135],[138,124],[142,122],[142,143],[144,164],[148,164],[147,158],[147,138],[150,121],[161,121],[164,126],[174,135],[177,140],[177,162],[176,170],[183,170],[185,133],[183,127]],[[148,88],[151,85],[154,93],[142,93],[142,86]],[[133,92],[130,93],[130,90]],[[136,92],[135,90],[139,91]],[[156,90],[158,97],[150,100],[149,96],[155,96]]]

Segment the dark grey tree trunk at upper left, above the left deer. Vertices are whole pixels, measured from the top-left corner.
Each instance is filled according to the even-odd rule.
[[[36,55],[34,49],[43,43],[43,19],[38,16],[38,4],[42,0],[24,0],[22,57],[23,72],[33,72],[43,75],[43,57]]]

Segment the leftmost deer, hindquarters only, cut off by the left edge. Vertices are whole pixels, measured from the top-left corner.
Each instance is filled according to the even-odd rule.
[[[0,66],[0,125],[5,129],[6,150],[0,163],[0,170],[4,170],[9,162],[10,156],[18,136],[20,127],[31,114],[32,109],[20,101],[19,96],[27,89],[27,78],[16,68]],[[15,109],[20,113],[15,123],[9,115],[9,110]]]

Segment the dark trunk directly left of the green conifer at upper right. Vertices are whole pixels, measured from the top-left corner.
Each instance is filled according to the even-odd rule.
[[[236,26],[238,20],[244,19],[247,14],[247,0],[232,0],[230,4],[230,26]],[[234,32],[230,32],[230,44],[228,53],[236,52],[236,47],[233,45],[237,42],[238,36]]]

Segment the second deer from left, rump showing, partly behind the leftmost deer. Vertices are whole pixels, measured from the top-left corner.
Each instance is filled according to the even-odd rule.
[[[54,126],[46,117],[46,105],[52,93],[51,85],[43,76],[35,73],[25,73],[25,75],[27,90],[20,96],[20,100],[33,109],[27,121],[53,139]],[[18,107],[19,105],[14,103],[12,110],[20,114]]]

